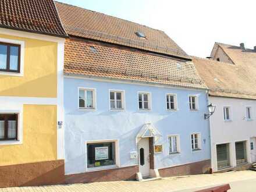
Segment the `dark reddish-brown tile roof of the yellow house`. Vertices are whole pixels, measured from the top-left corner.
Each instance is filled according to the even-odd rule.
[[[67,37],[53,0],[1,0],[0,27]]]

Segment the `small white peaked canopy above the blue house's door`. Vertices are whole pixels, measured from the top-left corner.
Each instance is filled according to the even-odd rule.
[[[155,128],[151,123],[146,123],[145,125],[143,125],[140,132],[138,132],[136,136],[136,143],[138,143],[138,141],[140,141],[141,138],[147,137],[154,137],[154,141],[156,142],[162,136],[157,130],[157,128]]]

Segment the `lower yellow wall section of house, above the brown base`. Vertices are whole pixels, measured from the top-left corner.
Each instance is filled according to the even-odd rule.
[[[56,105],[23,105],[23,144],[0,145],[0,166],[56,159]]]

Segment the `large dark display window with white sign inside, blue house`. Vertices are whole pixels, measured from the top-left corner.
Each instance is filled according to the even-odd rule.
[[[115,142],[87,144],[87,168],[115,165]]]

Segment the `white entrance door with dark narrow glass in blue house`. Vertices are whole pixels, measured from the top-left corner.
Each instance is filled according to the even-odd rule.
[[[150,175],[150,143],[148,138],[141,138],[138,142],[139,169],[143,177]]]

